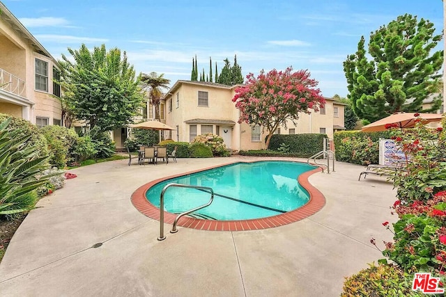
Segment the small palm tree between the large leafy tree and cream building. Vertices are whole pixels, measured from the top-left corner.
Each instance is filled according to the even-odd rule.
[[[155,108],[155,119],[160,119],[160,101],[162,88],[169,88],[170,79],[164,79],[164,73],[158,75],[156,72],[141,74],[141,87],[148,91],[152,106]]]

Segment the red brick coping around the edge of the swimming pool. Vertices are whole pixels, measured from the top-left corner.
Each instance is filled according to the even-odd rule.
[[[234,163],[240,163],[240,162],[234,162]],[[134,207],[136,207],[136,209],[139,212],[141,212],[141,214],[144,214],[145,216],[148,216],[149,218],[153,218],[155,220],[160,220],[160,209],[155,207],[153,204],[151,204],[151,202],[148,202],[148,200],[146,199],[146,192],[148,191],[149,188],[151,188],[151,186],[154,186],[159,182],[163,182],[166,179],[180,177],[183,175],[190,175],[195,172],[201,172],[203,170],[213,169],[221,166],[226,166],[229,164],[231,163],[185,172],[178,175],[171,175],[169,177],[162,177],[160,179],[155,179],[152,182],[140,186],[139,188],[137,188],[136,191],[134,191],[131,198],[132,204],[134,205]],[[304,172],[299,176],[298,182],[309,193],[309,202],[307,202],[307,204],[305,204],[303,207],[300,207],[293,211],[286,212],[285,214],[279,214],[277,216],[268,216],[267,218],[255,218],[252,220],[203,220],[198,218],[191,218],[189,216],[184,216],[183,218],[180,218],[180,220],[178,220],[178,226],[197,230],[208,230],[208,231],[247,231],[247,230],[262,230],[295,223],[298,220],[302,220],[304,218],[312,216],[313,214],[316,214],[316,212],[321,210],[325,205],[325,197],[323,196],[323,194],[308,182],[308,177],[310,175],[313,175],[314,173],[320,171],[322,171],[321,168],[316,168],[314,170]],[[173,224],[176,216],[178,215],[170,214],[169,212],[164,211],[164,223]]]

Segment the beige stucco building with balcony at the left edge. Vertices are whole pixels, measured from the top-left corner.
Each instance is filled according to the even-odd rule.
[[[0,113],[61,125],[57,61],[0,2]]]

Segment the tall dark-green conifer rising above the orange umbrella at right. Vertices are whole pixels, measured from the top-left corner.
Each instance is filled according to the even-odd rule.
[[[429,20],[402,15],[387,26],[372,32],[369,61],[364,49],[364,36],[355,54],[344,61],[348,99],[355,114],[371,122],[398,111],[420,111],[422,102],[433,93],[443,65],[443,51],[431,50],[442,35],[433,35]],[[432,109],[438,110],[440,99]]]

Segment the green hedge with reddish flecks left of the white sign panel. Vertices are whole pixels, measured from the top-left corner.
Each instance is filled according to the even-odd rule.
[[[334,147],[337,161],[360,165],[377,164],[379,162],[379,138],[390,138],[390,131],[334,132]]]

